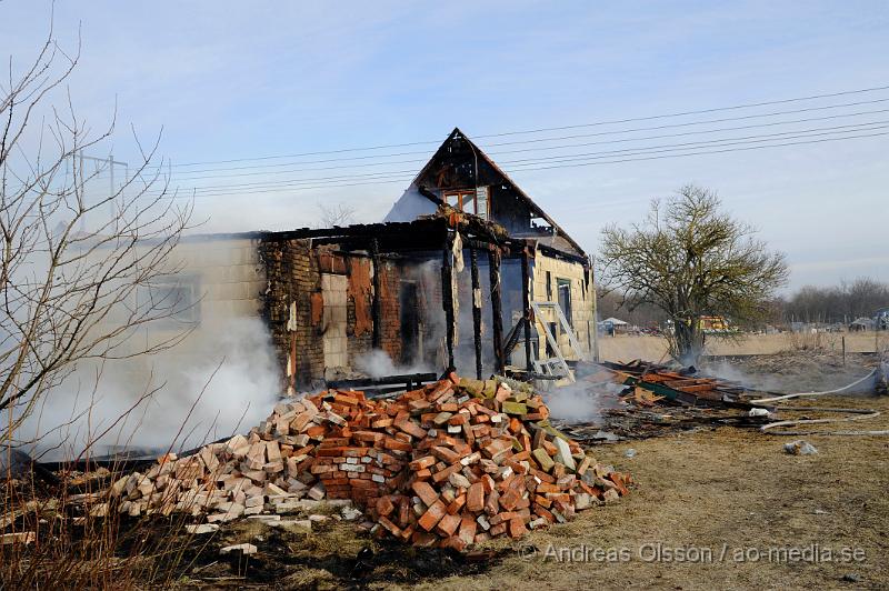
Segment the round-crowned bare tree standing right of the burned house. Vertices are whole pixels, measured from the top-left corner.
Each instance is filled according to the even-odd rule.
[[[769,252],[750,226],[720,206],[715,192],[686,186],[666,204],[653,200],[641,224],[602,232],[603,284],[631,309],[649,303],[663,310],[673,323],[670,352],[683,363],[703,345],[701,315],[760,318],[787,281],[783,254]]]

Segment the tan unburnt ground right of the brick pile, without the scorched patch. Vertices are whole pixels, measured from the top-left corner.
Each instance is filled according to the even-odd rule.
[[[818,403],[889,413],[886,398]],[[889,429],[889,414],[857,427]],[[807,435],[817,454],[786,454],[795,439],[718,428],[601,445],[600,459],[633,474],[629,497],[533,533],[482,575],[421,588],[889,587],[889,438]],[[560,560],[560,548],[575,555]]]

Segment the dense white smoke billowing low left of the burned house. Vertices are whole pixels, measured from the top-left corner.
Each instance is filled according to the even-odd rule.
[[[33,453],[44,460],[77,458],[109,428],[92,454],[119,447],[189,449],[257,424],[278,392],[261,319],[202,319],[199,330],[162,353],[79,363],[46,393],[17,439],[40,438]]]

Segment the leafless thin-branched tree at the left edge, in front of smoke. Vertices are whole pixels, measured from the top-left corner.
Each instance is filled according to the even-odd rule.
[[[10,58],[0,83],[0,444],[77,363],[156,352],[188,330],[131,339],[183,305],[152,287],[178,270],[171,253],[191,203],[168,194],[151,166],[157,141],[136,140],[139,164],[119,186],[87,191],[108,171],[79,157],[107,149],[114,122],[93,133],[76,116],[66,82],[78,59],[79,43],[67,53],[50,28],[23,68]]]

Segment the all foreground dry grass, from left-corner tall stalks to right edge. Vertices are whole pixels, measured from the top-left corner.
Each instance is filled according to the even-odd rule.
[[[889,429],[888,398],[795,401],[809,404],[878,408],[885,414],[842,427]],[[637,484],[629,497],[520,542],[498,539],[488,549],[501,551],[495,552],[500,558],[476,564],[449,553],[378,542],[334,519],[309,535],[241,520],[212,535],[190,537],[181,531],[182,518],[131,520],[113,512],[108,519],[91,518],[63,494],[41,491],[46,502],[17,524],[19,530],[38,527],[38,543],[0,549],[0,588],[889,587],[889,438],[805,439],[818,454],[788,455],[782,445],[792,438],[732,428],[600,445],[593,450],[598,459],[633,474]],[[623,455],[630,447],[637,450],[633,459]],[[18,503],[7,495],[4,502],[12,501]],[[72,527],[74,517],[83,517],[83,523]],[[38,524],[39,519],[44,522]],[[241,542],[256,544],[259,552],[240,559],[219,555],[220,547]],[[657,543],[709,549],[715,558],[703,563],[642,560],[640,549]],[[732,560],[737,549],[811,544],[860,548],[865,560]],[[546,558],[550,547],[612,550],[615,558],[626,549],[628,560],[559,562]],[[723,548],[728,553],[720,560]],[[847,575],[858,579],[848,581]]]

